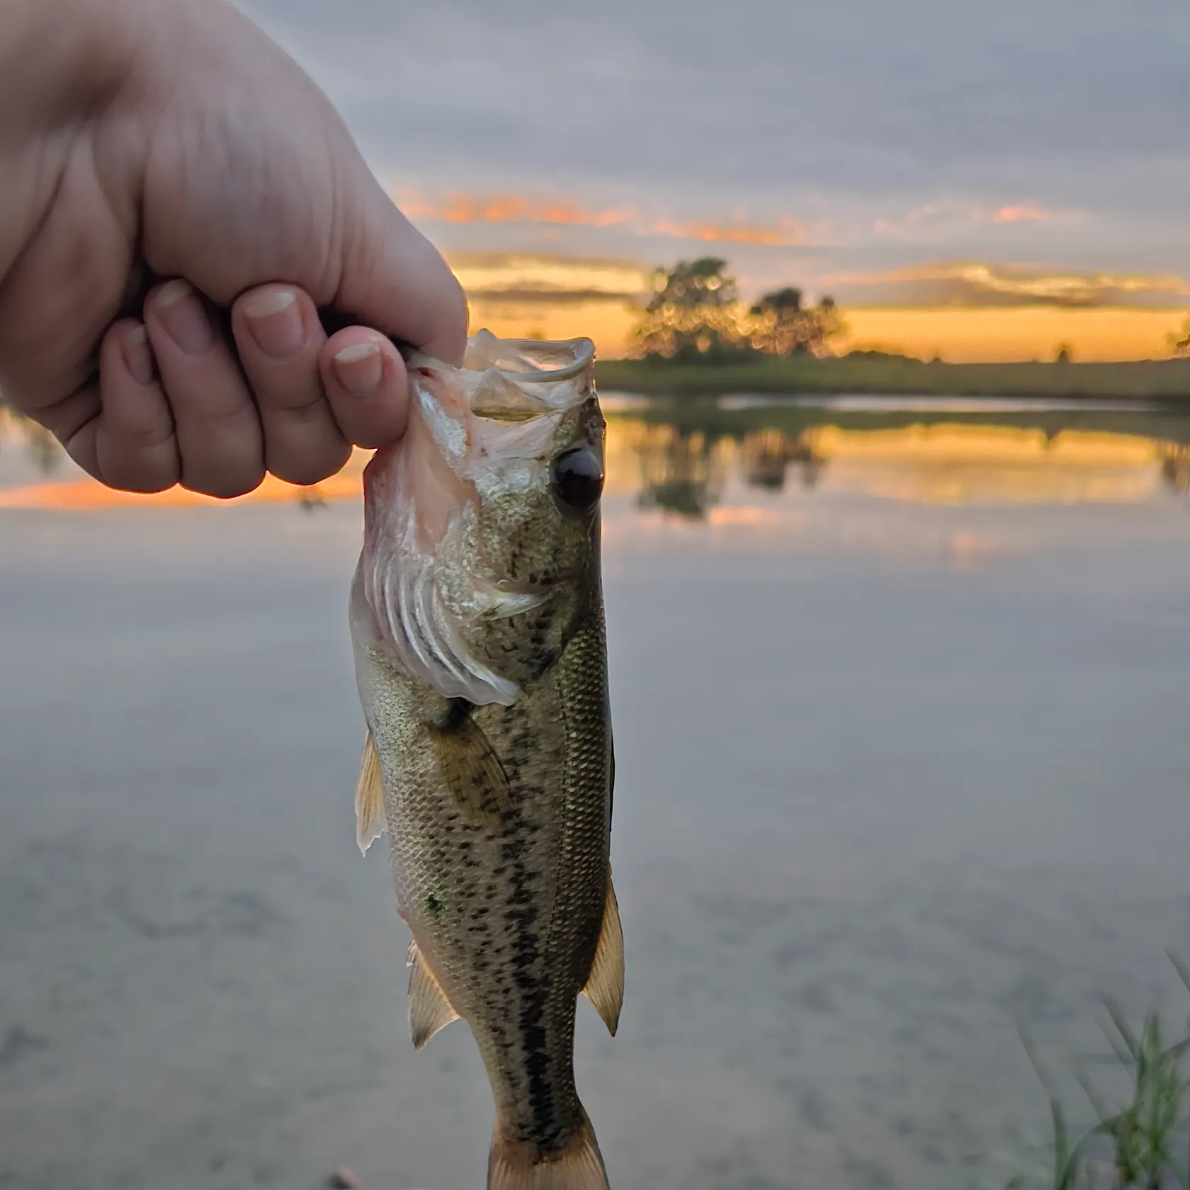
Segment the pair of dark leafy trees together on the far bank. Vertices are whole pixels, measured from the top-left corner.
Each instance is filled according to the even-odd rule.
[[[844,330],[832,298],[808,306],[793,286],[745,307],[726,269],[727,262],[714,256],[657,269],[653,296],[634,332],[634,353],[675,363],[825,355],[828,340]]]

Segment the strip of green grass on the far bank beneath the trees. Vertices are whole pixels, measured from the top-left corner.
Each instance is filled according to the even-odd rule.
[[[601,359],[605,390],[651,396],[725,393],[888,393],[913,396],[1077,396],[1190,402],[1190,361],[1120,364],[944,364],[900,358],[800,357],[728,364]]]

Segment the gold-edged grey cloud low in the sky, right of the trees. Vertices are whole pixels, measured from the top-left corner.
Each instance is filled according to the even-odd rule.
[[[1072,273],[1023,264],[939,262],[884,273],[823,278],[844,303],[868,306],[1141,306],[1185,305],[1178,276]],[[1182,298],[1180,302],[1170,302]]]

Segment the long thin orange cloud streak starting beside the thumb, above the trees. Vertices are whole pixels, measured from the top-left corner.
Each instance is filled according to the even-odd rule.
[[[790,245],[804,242],[804,232],[793,219],[776,225],[745,221],[737,212],[728,223],[696,220],[679,223],[669,218],[650,218],[635,207],[590,209],[574,199],[532,199],[525,194],[470,195],[458,190],[438,195],[399,192],[395,200],[411,219],[437,219],[444,223],[528,223],[574,224],[588,227],[625,227],[639,236],[668,236],[674,239],[725,244]]]

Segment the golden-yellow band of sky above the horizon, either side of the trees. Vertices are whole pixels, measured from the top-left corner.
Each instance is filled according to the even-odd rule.
[[[585,336],[605,358],[631,351],[652,292],[651,268],[632,259],[463,252],[447,253],[447,261],[468,293],[472,332],[486,326],[509,338]],[[832,340],[840,353],[1023,362],[1053,359],[1065,346],[1084,362],[1165,359],[1190,319],[1190,287],[1177,276],[951,262],[823,274],[820,283],[840,295],[845,331]],[[889,300],[898,294],[901,300]],[[1140,305],[1146,300],[1163,305]]]

